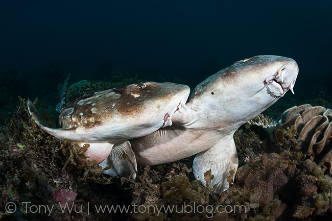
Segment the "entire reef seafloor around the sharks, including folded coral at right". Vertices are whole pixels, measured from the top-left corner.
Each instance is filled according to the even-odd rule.
[[[56,127],[54,108],[61,85],[52,92],[48,87],[38,93],[42,86],[31,87],[29,84],[36,82],[27,83],[19,70],[4,76],[1,82],[6,84],[0,85],[5,112],[0,134],[1,220],[332,218],[332,102],[324,91],[305,101],[282,98],[260,119],[242,126],[234,135],[239,169],[235,180],[229,179],[229,189],[218,195],[214,188],[194,179],[193,157],[140,167],[135,180],[103,175],[99,166],[86,161],[78,146],[43,132],[28,114],[27,97],[34,100],[38,95],[35,104],[41,118]],[[136,73],[123,69],[111,76],[108,81],[74,79],[67,99],[141,81]],[[184,83],[178,79],[146,80]],[[31,88],[24,99],[17,97],[17,84],[21,90]],[[282,115],[282,125],[269,121],[267,116],[277,119],[295,105],[299,108]],[[269,124],[271,128],[266,128]],[[207,183],[213,178],[207,171]],[[11,213],[13,208],[16,211]]]

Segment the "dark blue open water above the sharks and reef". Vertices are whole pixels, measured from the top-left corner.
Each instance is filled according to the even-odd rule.
[[[0,108],[124,67],[194,87],[255,55],[298,62],[293,99],[331,97],[331,1],[2,1]],[[14,69],[13,69],[14,68]],[[287,96],[290,96],[287,94]],[[52,101],[50,105],[56,105]]]

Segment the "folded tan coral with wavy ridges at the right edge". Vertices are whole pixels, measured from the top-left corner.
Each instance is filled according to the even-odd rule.
[[[296,127],[300,148],[318,165],[324,166],[328,173],[332,167],[332,110],[309,104],[292,107],[282,113],[279,125],[274,130]]]

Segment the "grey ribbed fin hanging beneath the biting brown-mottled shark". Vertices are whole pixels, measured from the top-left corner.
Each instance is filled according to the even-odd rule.
[[[131,174],[136,177],[133,173],[134,169],[137,170],[136,158],[128,140],[115,143],[109,156],[99,165],[103,168],[112,166],[104,170],[104,174],[111,177],[129,177]]]

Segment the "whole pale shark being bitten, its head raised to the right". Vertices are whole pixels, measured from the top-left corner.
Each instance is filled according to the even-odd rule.
[[[199,153],[195,177],[205,184],[211,169],[212,185],[224,191],[229,171],[238,167],[234,132],[292,90],[297,74],[296,62],[280,56],[256,56],[224,68],[194,89],[171,127],[130,141],[137,163],[157,165]]]

